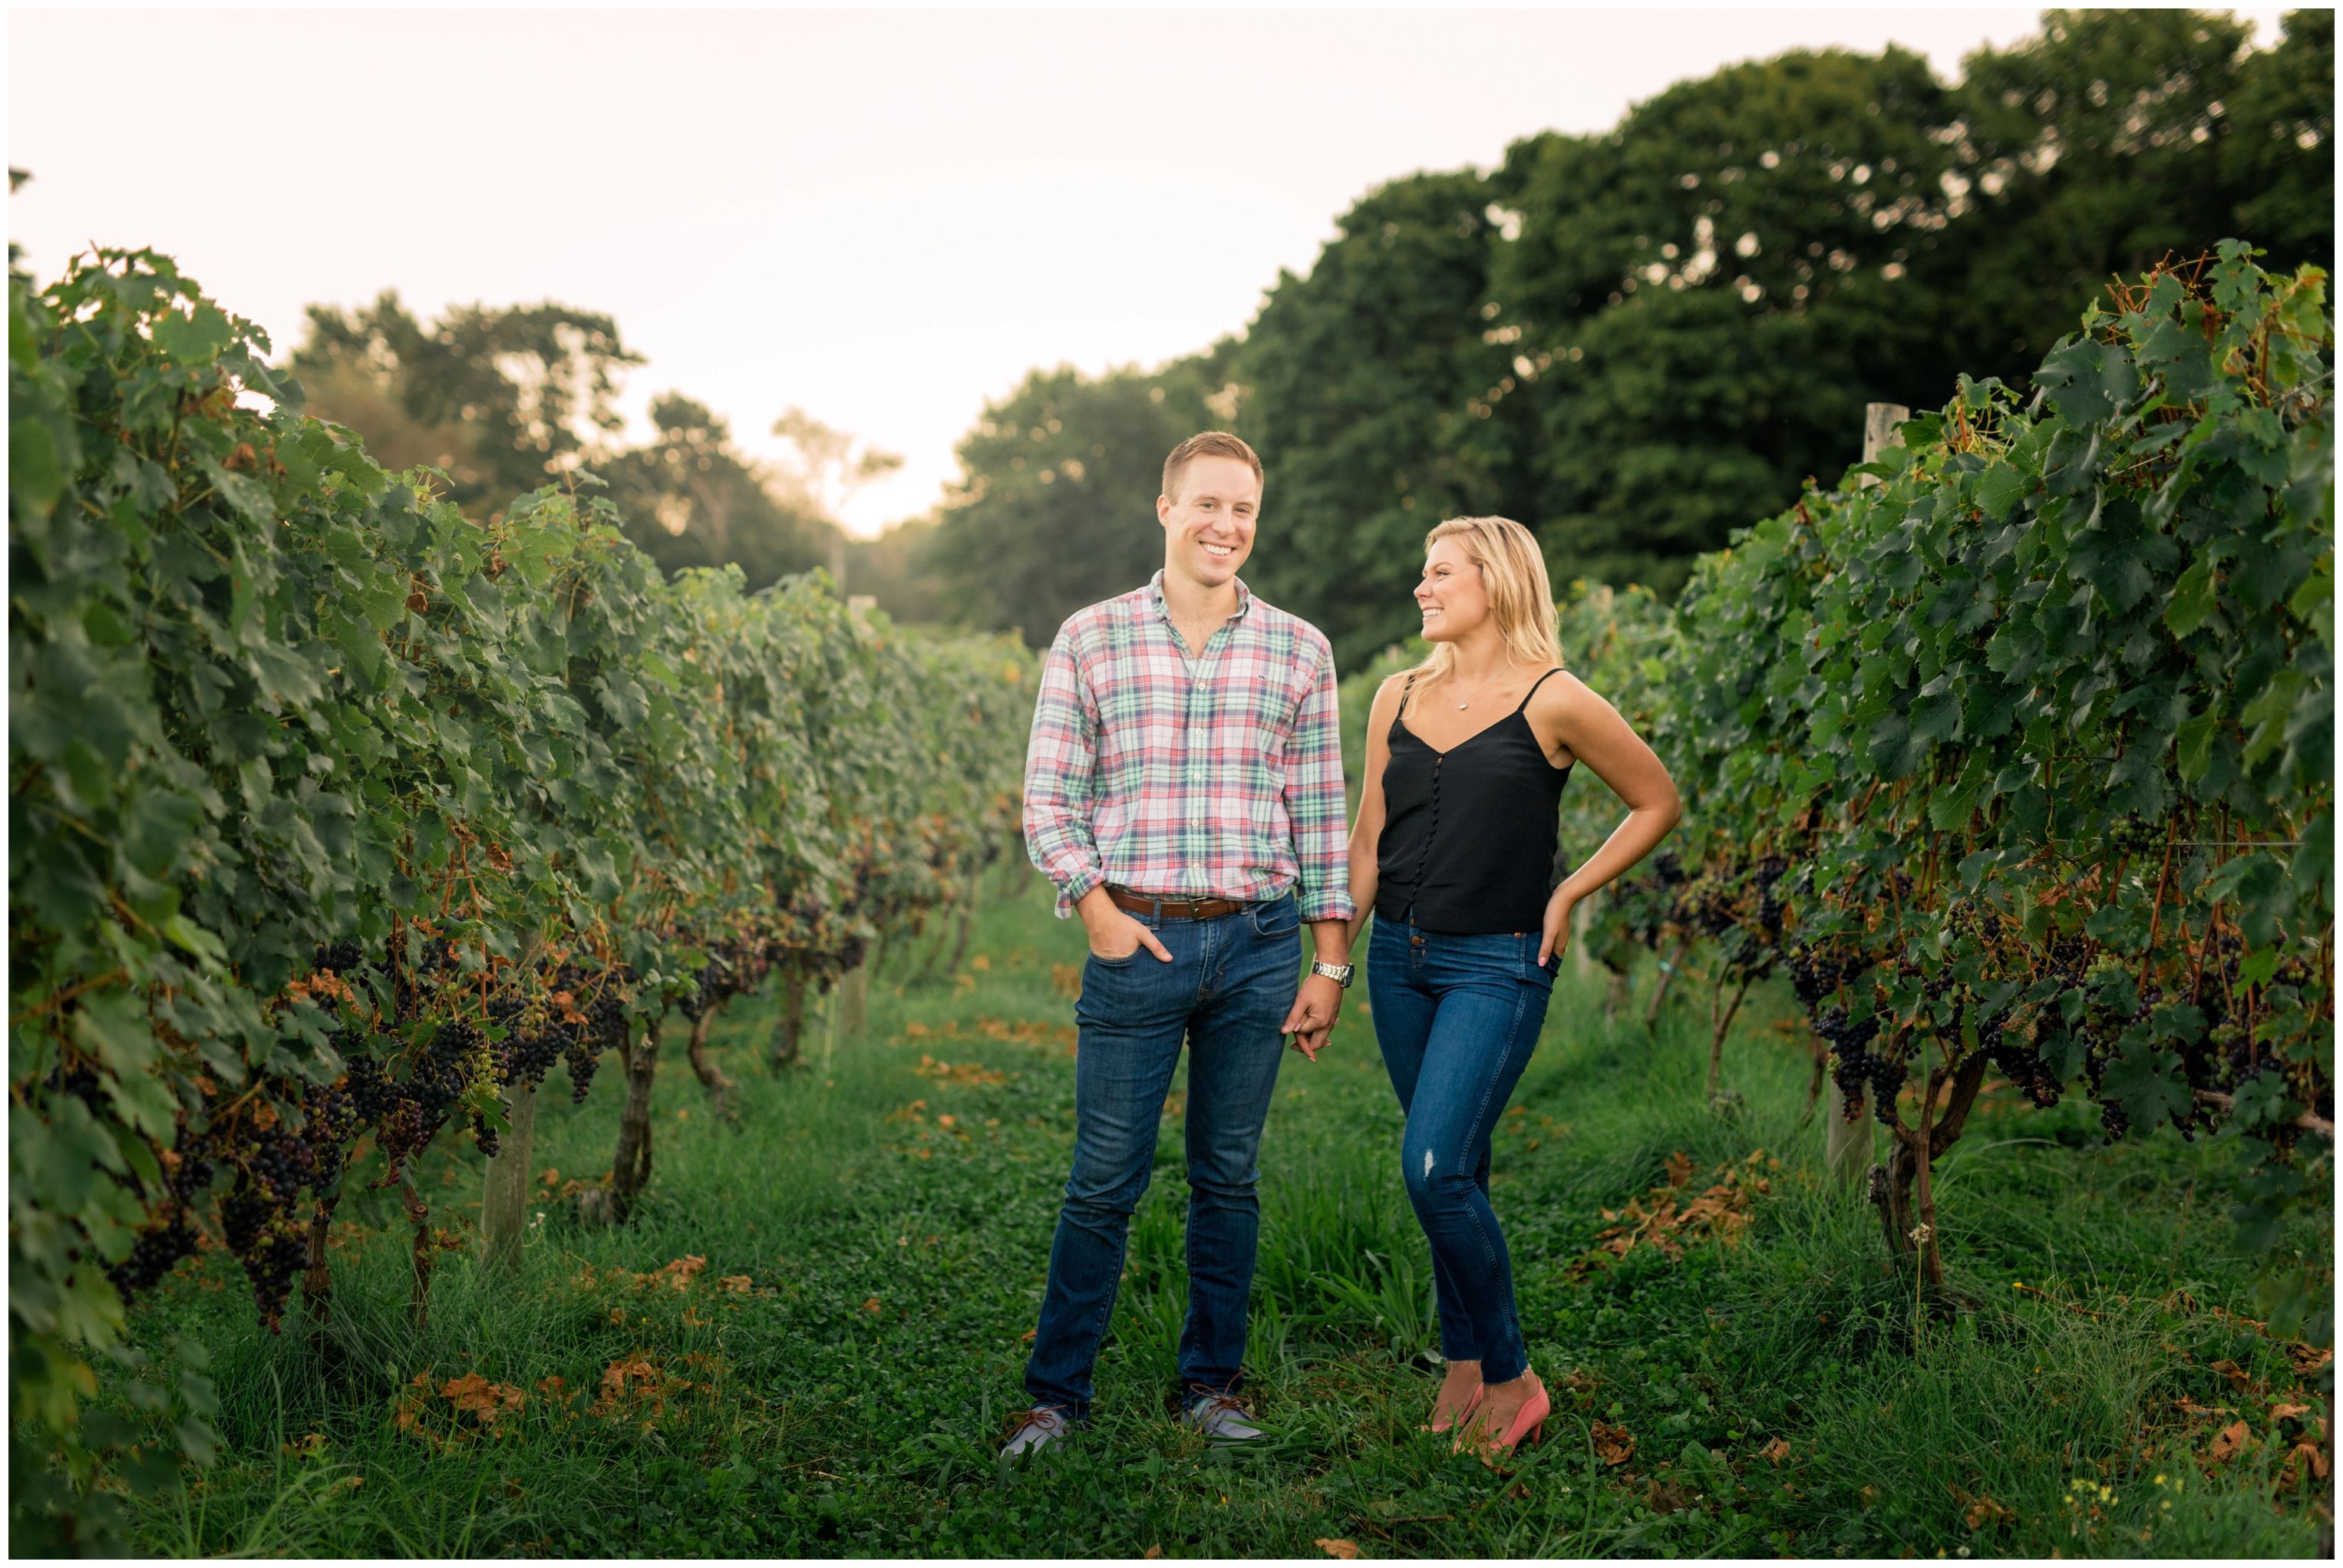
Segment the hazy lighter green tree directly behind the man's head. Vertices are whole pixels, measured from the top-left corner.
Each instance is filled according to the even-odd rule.
[[[1047,647],[1068,614],[1155,574],[1164,457],[1232,415],[1225,342],[1155,373],[1036,370],[961,438],[961,480],[914,572],[951,619]],[[1275,495],[1272,476],[1265,511]]]

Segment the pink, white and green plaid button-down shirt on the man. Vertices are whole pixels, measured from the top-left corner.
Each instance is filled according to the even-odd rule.
[[[1202,654],[1162,572],[1066,619],[1026,743],[1024,830],[1059,919],[1101,881],[1164,898],[1296,891],[1350,919],[1333,649],[1239,581]]]

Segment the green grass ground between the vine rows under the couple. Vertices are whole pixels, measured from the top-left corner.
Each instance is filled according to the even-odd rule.
[[[2282,1345],[2214,1313],[2252,1313],[2221,1219],[2231,1151],[2172,1137],[2099,1148],[2085,1106],[1989,1097],[1940,1174],[1949,1284],[1975,1305],[1914,1322],[1872,1209],[1818,1177],[1821,1130],[1799,1125],[1806,1057],[1771,1027],[1788,996],[1760,991],[1743,1008],[1727,1048],[1743,1104],[1720,1120],[1701,1106],[1706,998],[1673,1005],[1654,1043],[1633,1017],[1607,1024],[1600,980],[1567,963],[1495,1177],[1532,1364],[1556,1395],[1544,1444],[1492,1472],[1418,1432],[1439,1376],[1420,1355],[1436,1338],[1429,1256],[1354,991],[1317,1064],[1286,1057],[1261,1153],[1251,1378],[1272,1441],[1211,1451],[1169,1416],[1186,1186],[1167,1116],[1097,1420],[1003,1472],[993,1446],[1026,1402],[1024,1336],[1073,1141],[1071,1001],[1052,966],[1078,961],[1080,928],[1050,919],[1036,881],[986,912],[970,952],[956,980],[904,987],[883,970],[869,1038],[815,1043],[808,1066],[780,1076],[761,1064],[769,1013],[738,1003],[715,1038],[740,1083],[740,1130],[710,1118],[677,1048],[635,1223],[581,1228],[548,1200],[518,1280],[485,1275],[469,1247],[445,1252],[422,1334],[405,1322],[405,1228],[382,1193],[377,1223],[335,1252],[321,1334],[298,1310],[284,1336],[262,1334],[220,1254],[185,1268],[136,1327],[155,1345],[171,1331],[211,1345],[223,1463],[141,1514],[143,1545],[370,1556],[1321,1556],[1319,1538],[1366,1556],[2317,1547],[2303,1484],[2275,1481],[2301,1420],[2270,1418],[2270,1402],[2315,1373],[2298,1378]],[[921,1057],[961,1071],[923,1073]],[[621,1085],[607,1069],[583,1106],[565,1088],[555,1073],[532,1160],[562,1181],[609,1163]],[[1753,1151],[1764,1155],[1750,1163]],[[1675,1153],[1694,1167],[1692,1193],[1720,1165],[1764,1177],[1739,1245],[1682,1256],[1645,1245],[1586,1266],[1603,1209],[1666,1181]],[[426,1181],[450,1214],[476,1212],[469,1148],[445,1144]],[[2331,1270],[2327,1214],[2289,1245]],[[686,1289],[633,1282],[684,1256],[705,1259]],[[740,1275],[747,1294],[722,1284]],[[2233,1364],[2242,1388],[2212,1362]],[[670,1378],[663,1409],[628,1397],[590,1413],[609,1369],[637,1364]],[[525,1406],[501,1432],[431,1441],[478,1425],[438,1392],[469,1373],[522,1390]],[[576,1397],[565,1406],[546,1378]],[[2193,1416],[2181,1399],[2235,1416]],[[419,1406],[417,1430],[401,1427],[403,1402]],[[2233,1418],[2256,1441],[2209,1465]],[[1605,1463],[1596,1423],[1612,1444],[1633,1437],[1624,1463]]]

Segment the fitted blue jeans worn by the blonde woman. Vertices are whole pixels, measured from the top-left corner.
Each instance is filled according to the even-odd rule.
[[[1375,1041],[1408,1113],[1399,1165],[1432,1242],[1441,1355],[1481,1362],[1483,1383],[1530,1366],[1488,1205],[1488,1144],[1553,996],[1558,963],[1539,968],[1537,945],[1537,930],[1443,935],[1382,919],[1366,945]]]

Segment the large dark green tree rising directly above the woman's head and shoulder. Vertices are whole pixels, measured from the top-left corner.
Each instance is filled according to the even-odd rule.
[[[1556,577],[1673,591],[1842,469],[1865,401],[1952,380],[1952,117],[1919,54],[1799,52],[1507,152],[1490,314],[1535,429],[1511,504]]]

